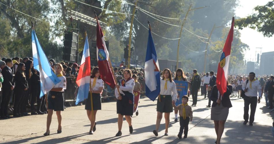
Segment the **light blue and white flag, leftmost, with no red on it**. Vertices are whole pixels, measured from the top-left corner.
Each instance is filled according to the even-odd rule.
[[[40,72],[40,97],[44,96],[47,92],[54,87],[61,80],[57,78],[56,74],[52,71],[50,63],[40,45],[36,33],[32,30],[31,33],[32,54],[33,54],[33,67]]]

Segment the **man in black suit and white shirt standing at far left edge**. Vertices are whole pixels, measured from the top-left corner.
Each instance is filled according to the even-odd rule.
[[[2,75],[4,78],[4,81],[2,83],[2,102],[1,102],[1,110],[0,110],[0,116],[2,119],[12,118],[9,115],[7,115],[7,109],[8,105],[10,103],[10,97],[12,95],[12,91],[14,89],[14,80],[12,76],[12,70],[11,67],[13,66],[11,59],[5,60],[6,66],[2,70]]]

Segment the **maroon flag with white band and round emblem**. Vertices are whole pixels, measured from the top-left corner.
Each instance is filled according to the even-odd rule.
[[[112,75],[112,70],[110,69],[110,66],[109,66],[108,50],[105,44],[104,33],[100,27],[98,19],[97,19],[96,45],[97,45],[97,60],[98,60],[100,77],[111,88],[114,88],[115,81]]]

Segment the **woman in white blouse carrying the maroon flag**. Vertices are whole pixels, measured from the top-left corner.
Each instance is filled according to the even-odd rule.
[[[115,86],[115,96],[117,98],[117,114],[118,114],[118,133],[116,136],[122,135],[123,117],[128,123],[130,133],[133,132],[131,124],[131,115],[133,115],[134,95],[133,89],[135,81],[132,78],[132,72],[129,69],[123,71],[124,78],[118,81],[118,85]],[[119,92],[117,88],[119,88]]]

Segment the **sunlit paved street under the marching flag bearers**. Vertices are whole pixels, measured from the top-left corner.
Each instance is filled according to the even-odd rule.
[[[198,96],[198,103],[193,109],[193,121],[189,123],[187,139],[178,139],[179,122],[174,122],[174,113],[170,115],[169,136],[164,136],[164,118],[161,121],[159,136],[152,131],[156,123],[156,103],[142,97],[139,103],[139,115],[134,114],[132,125],[134,132],[129,133],[128,124],[123,122],[122,136],[115,137],[118,131],[116,102],[102,103],[102,110],[97,112],[97,130],[89,135],[90,122],[85,106],[73,106],[62,112],[62,133],[57,134],[57,117],[54,113],[50,126],[50,135],[42,136],[46,131],[47,115],[0,120],[0,143],[212,143],[216,134],[214,123],[210,120],[211,109],[206,108],[208,100]],[[189,105],[192,104],[190,96]],[[228,120],[221,143],[273,144],[271,126],[274,112],[268,113],[264,99],[257,105],[254,126],[243,125],[243,99],[232,98]]]

